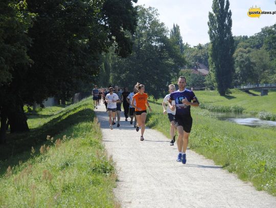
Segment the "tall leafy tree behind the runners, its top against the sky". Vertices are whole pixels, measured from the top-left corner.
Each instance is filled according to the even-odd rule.
[[[149,95],[159,98],[185,60],[177,45],[168,38],[168,30],[158,20],[156,9],[138,6],[137,11],[132,54],[128,58],[112,57],[110,80],[129,88],[136,82],[143,83]]]

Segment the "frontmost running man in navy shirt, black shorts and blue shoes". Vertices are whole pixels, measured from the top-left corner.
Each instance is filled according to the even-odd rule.
[[[193,93],[193,91],[186,89],[186,78],[178,78],[177,91],[171,93],[168,100],[171,110],[175,110],[175,126],[178,131],[177,147],[178,147],[178,162],[182,161],[182,164],[186,164],[186,150],[189,142],[189,134],[192,129],[193,119],[191,117],[191,106],[199,106],[199,102]],[[172,105],[172,101],[175,104]],[[193,102],[192,102],[193,101]]]

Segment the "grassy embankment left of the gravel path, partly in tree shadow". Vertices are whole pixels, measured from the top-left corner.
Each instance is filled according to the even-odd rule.
[[[118,205],[114,166],[93,109],[91,99],[45,108],[28,120],[30,132],[8,135],[0,147],[1,207]]]

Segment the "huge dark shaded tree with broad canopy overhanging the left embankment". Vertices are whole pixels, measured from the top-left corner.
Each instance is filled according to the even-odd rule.
[[[1,112],[7,113],[11,132],[28,130],[24,104],[41,103],[50,96],[66,99],[94,81],[101,54],[115,41],[118,55],[131,53],[131,36],[126,33],[133,34],[136,27],[132,2],[136,1],[28,1],[28,11],[37,17],[33,27],[20,34],[32,40],[32,64],[17,64],[10,81],[0,86]],[[26,24],[25,16],[17,18]]]

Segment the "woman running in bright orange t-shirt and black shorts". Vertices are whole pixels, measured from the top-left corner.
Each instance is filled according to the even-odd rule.
[[[133,99],[131,101],[131,105],[135,108],[135,114],[137,119],[137,125],[136,125],[136,131],[139,131],[139,126],[141,126],[141,137],[140,141],[144,141],[144,132],[145,132],[145,122],[147,118],[147,107],[149,108],[151,112],[151,108],[149,106],[148,102],[148,95],[144,93],[145,86],[143,84],[137,83],[135,85],[136,88],[138,88],[139,93],[136,93],[133,96]],[[136,102],[136,105],[134,105],[134,101]]]

